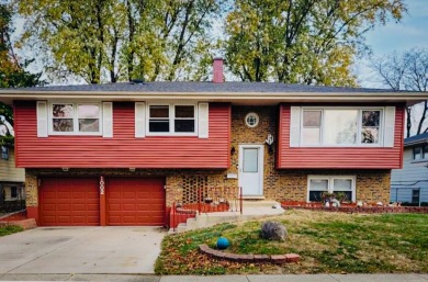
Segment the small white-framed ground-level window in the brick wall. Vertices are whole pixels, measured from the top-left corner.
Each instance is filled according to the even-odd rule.
[[[345,201],[356,201],[356,178],[348,176],[309,176],[307,201],[322,201],[323,193],[341,194]]]

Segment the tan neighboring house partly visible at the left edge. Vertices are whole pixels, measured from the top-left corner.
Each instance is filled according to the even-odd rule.
[[[3,202],[25,200],[25,170],[15,167],[14,149],[1,146],[0,159],[0,204]]]

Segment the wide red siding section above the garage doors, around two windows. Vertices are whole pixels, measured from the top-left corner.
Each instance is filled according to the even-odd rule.
[[[36,103],[16,102],[16,166],[21,168],[222,168],[229,163],[230,105],[210,104],[210,138],[135,138],[134,103],[113,104],[113,138],[38,138]]]

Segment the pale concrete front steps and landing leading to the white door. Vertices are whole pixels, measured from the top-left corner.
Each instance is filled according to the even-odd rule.
[[[179,224],[176,230],[171,228],[169,233],[183,233],[210,227],[219,223],[245,222],[284,213],[281,204],[275,201],[244,201],[243,206],[243,214],[240,212],[196,214],[195,218],[188,218],[187,223]]]

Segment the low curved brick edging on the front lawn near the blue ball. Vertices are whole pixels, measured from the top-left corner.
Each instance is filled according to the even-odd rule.
[[[202,253],[205,253],[215,259],[229,260],[236,262],[271,262],[275,264],[282,264],[288,262],[297,262],[301,257],[295,253],[285,253],[285,255],[237,255],[230,252],[223,252],[219,250],[215,250],[210,248],[207,245],[203,244],[199,246],[199,250]]]

